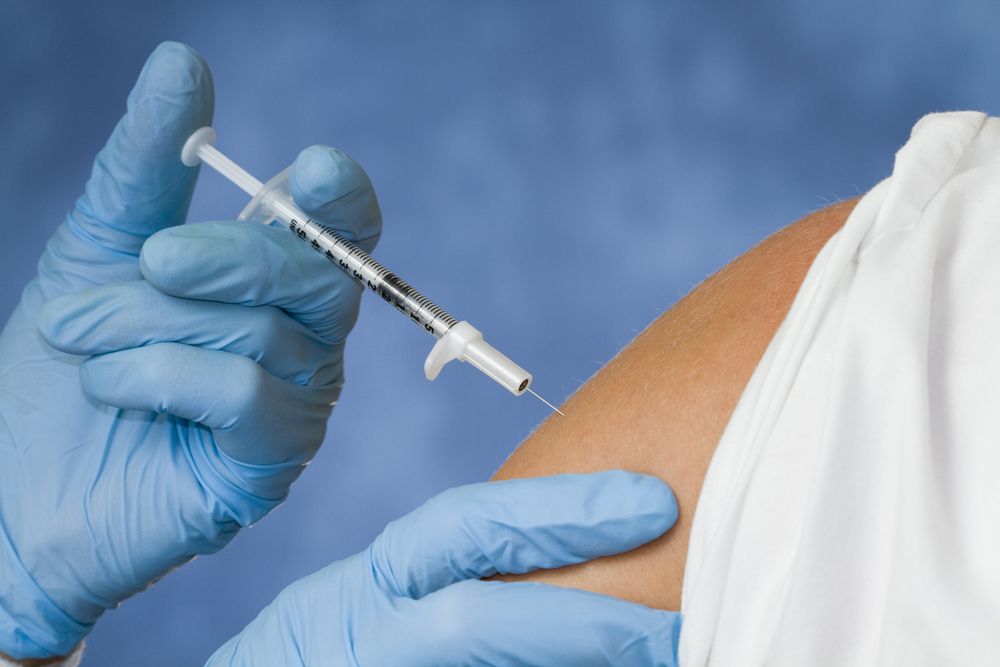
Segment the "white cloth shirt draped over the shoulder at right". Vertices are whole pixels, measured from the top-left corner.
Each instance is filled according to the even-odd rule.
[[[681,664],[1000,664],[1000,120],[922,119],[705,479]]]

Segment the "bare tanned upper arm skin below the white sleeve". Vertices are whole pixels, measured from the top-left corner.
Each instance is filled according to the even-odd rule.
[[[674,489],[677,524],[627,554],[515,579],[679,609],[695,504],[740,394],[816,254],[857,200],[769,237],[659,317],[521,443],[494,479],[623,468]]]

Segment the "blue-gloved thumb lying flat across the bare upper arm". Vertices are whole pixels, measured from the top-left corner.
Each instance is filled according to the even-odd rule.
[[[623,470],[450,489],[390,523],[370,547],[396,595],[420,598],[464,579],[521,574],[622,553],[677,520],[655,477]]]

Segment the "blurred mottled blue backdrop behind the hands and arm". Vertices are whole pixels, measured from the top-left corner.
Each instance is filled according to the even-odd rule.
[[[929,111],[1000,110],[1000,3],[0,3],[0,313],[161,40],[198,49],[219,146],[266,178],[312,143],[372,176],[376,255],[561,400],[709,273],[888,175]],[[192,220],[242,194],[203,172]],[[24,224],[27,222],[28,224]],[[101,621],[85,665],[200,664],[286,584],[546,415],[366,297],[324,449],[224,552]]]

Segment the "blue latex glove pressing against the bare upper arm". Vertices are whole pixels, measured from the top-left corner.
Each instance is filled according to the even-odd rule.
[[[676,518],[666,485],[622,471],[452,489],[286,588],[207,664],[673,666],[680,614],[479,578],[627,551]]]

